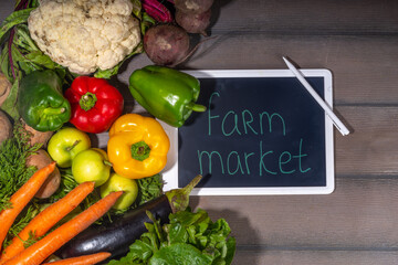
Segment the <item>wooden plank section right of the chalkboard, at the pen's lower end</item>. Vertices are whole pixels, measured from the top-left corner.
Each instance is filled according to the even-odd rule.
[[[337,110],[354,129],[346,137],[336,132],[337,174],[397,174],[398,108],[346,106]]]

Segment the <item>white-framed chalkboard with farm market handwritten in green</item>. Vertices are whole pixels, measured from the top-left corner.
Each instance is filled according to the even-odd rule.
[[[303,70],[332,106],[332,74]],[[333,125],[289,70],[190,71],[199,104],[171,138],[167,188],[198,173],[192,194],[310,194],[334,190]],[[178,145],[176,145],[178,144]]]

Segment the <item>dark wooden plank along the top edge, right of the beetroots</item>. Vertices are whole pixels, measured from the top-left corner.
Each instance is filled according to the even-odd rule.
[[[389,0],[214,1],[213,33],[387,34],[398,32],[398,2]]]

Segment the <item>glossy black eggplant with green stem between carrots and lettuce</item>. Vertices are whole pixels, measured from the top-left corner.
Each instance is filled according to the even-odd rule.
[[[198,176],[187,187],[168,191],[139,208],[127,211],[112,223],[91,225],[61,247],[56,255],[67,258],[109,252],[112,258],[127,254],[129,245],[147,231],[145,222],[151,222],[146,211],[151,212],[157,220],[160,220],[160,223],[166,223],[171,212],[181,211],[188,206],[189,193],[200,179],[201,176]]]

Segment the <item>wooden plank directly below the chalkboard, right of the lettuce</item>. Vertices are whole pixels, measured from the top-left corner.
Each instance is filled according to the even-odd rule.
[[[191,197],[239,245],[397,251],[398,178],[337,179],[329,195]]]

